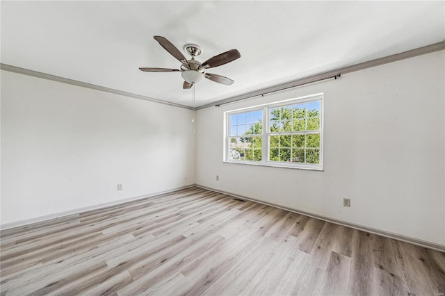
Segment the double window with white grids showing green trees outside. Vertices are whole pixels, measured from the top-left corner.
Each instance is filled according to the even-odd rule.
[[[229,111],[225,120],[225,161],[322,170],[323,94]]]

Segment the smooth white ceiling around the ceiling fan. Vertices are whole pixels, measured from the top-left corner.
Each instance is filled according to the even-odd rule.
[[[445,39],[445,1],[1,1],[1,63],[191,106],[156,40],[199,44],[208,72],[197,106]]]

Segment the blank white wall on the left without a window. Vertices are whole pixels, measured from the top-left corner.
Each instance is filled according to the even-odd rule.
[[[191,110],[1,71],[1,224],[193,183]]]

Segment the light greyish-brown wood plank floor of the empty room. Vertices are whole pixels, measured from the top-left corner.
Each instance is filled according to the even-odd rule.
[[[188,188],[1,231],[0,289],[1,295],[444,295],[445,254]]]

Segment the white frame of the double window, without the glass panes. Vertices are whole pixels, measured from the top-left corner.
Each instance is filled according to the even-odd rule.
[[[316,131],[302,131],[301,133],[310,134],[310,133],[320,133],[320,156],[319,156],[319,163],[318,164],[309,164],[309,163],[284,163],[279,161],[269,161],[269,137],[271,134],[277,135],[281,133],[271,133],[270,132],[270,120],[269,120],[269,108],[276,108],[276,107],[284,107],[289,106],[291,104],[303,104],[308,103],[311,101],[320,101],[320,129]],[[224,155],[223,155],[223,162],[225,163],[238,163],[238,164],[247,164],[247,165],[264,165],[269,167],[289,167],[293,169],[302,169],[302,170],[318,170],[323,171],[323,131],[324,131],[324,108],[323,108],[323,101],[324,101],[324,94],[312,94],[305,97],[298,97],[298,98],[292,98],[292,99],[286,99],[283,101],[277,101],[270,104],[262,104],[258,106],[248,107],[248,108],[241,108],[237,110],[229,110],[224,113]],[[236,159],[229,159],[229,138],[232,138],[230,136],[230,122],[229,117],[230,115],[238,114],[238,113],[247,113],[252,112],[256,110],[263,110],[263,133],[262,133],[262,154],[261,154],[261,161],[244,161],[244,160],[236,160]],[[296,134],[300,132],[282,132],[285,134]]]

